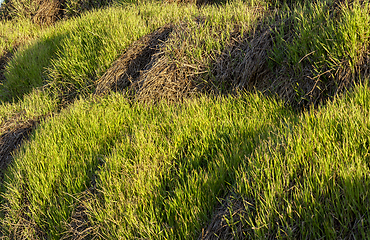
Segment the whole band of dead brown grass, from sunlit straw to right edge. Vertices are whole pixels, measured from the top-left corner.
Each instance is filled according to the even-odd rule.
[[[202,21],[196,22],[203,27]],[[365,47],[355,69],[345,59],[334,68],[316,69],[311,61],[306,61],[309,55],[302,58],[301,70],[292,67],[288,60],[271,65],[276,42],[272,29],[285,26],[284,41],[291,42],[293,25],[288,18],[275,19],[273,25],[261,22],[248,33],[234,28],[221,53],[209,53],[195,61],[197,64],[186,56],[186,50],[194,47],[192,40],[188,41],[193,37],[189,24],[161,28],[134,43],[98,81],[96,93],[125,89],[133,98],[150,102],[180,101],[195,92],[229,94],[257,90],[277,96],[293,107],[306,108],[351,88],[360,77],[370,76],[370,54]]]

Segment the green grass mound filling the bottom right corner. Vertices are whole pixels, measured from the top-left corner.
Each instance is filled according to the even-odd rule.
[[[235,171],[244,236],[368,239],[368,86],[297,120],[272,132]]]

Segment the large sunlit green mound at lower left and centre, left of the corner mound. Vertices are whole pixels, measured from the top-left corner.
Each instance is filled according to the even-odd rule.
[[[232,169],[287,113],[261,95],[182,106],[132,104],[120,94],[79,101],[40,126],[17,154],[4,184],[4,230],[21,234],[12,226],[28,216],[36,227],[24,224],[23,232],[59,239],[73,195],[96,176],[101,194],[88,214],[107,238],[194,237],[227,191]]]

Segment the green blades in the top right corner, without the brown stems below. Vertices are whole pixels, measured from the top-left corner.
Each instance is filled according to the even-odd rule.
[[[369,45],[369,10],[368,2],[359,1],[339,6],[332,1],[298,4],[279,16],[290,20],[276,28],[271,59],[297,73],[312,65],[315,76],[326,71],[333,75],[345,64],[354,71]]]

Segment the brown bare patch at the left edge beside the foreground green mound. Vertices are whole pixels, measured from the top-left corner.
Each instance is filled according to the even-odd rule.
[[[27,139],[36,125],[37,118],[18,122],[13,118],[0,127],[0,182],[4,179],[4,172],[12,160],[12,152],[17,149],[23,140]]]

